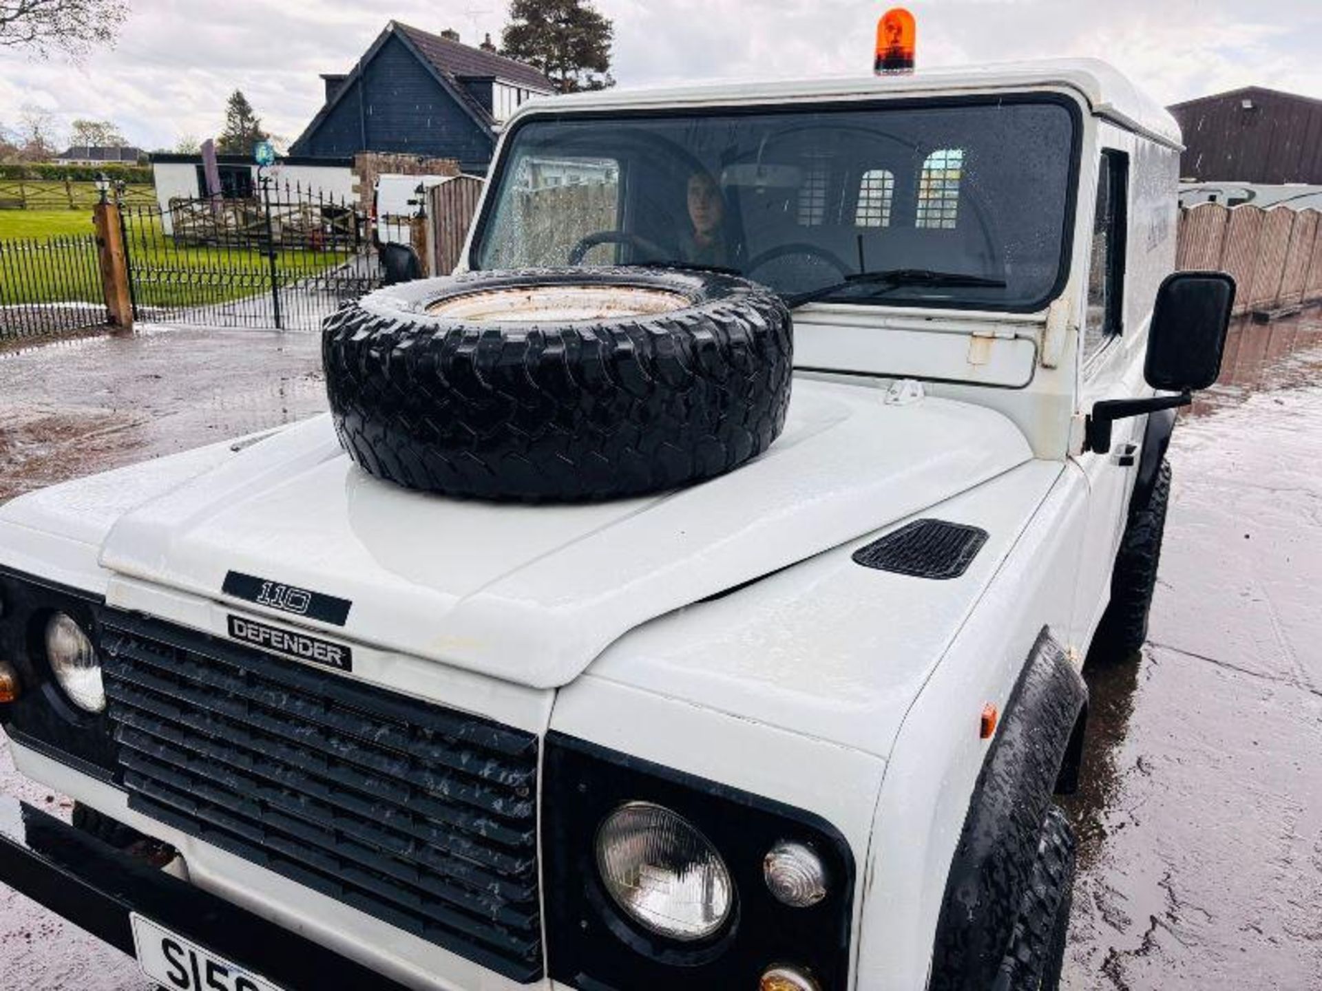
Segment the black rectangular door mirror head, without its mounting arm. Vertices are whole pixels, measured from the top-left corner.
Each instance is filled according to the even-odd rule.
[[[1235,279],[1225,272],[1175,272],[1157,291],[1144,378],[1153,388],[1190,392],[1222,374]]]

